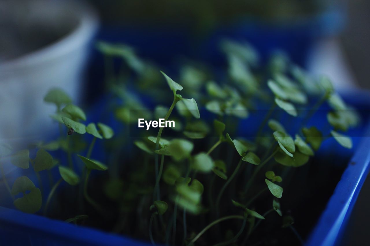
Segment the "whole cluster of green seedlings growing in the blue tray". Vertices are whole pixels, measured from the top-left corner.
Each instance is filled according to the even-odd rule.
[[[31,163],[37,177],[40,171],[58,168],[61,178],[43,203],[40,178],[40,188],[22,176],[10,189],[1,170],[11,197],[23,194],[14,200],[16,208],[35,213],[44,207],[47,215],[48,204],[65,181],[75,186],[102,218],[111,217],[108,208],[114,207],[118,216],[111,230],[147,238],[153,244],[244,245],[253,242],[253,233],[270,219],[290,228],[302,240],[292,225],[292,215],[282,209],[289,204],[280,205],[283,191],[290,185],[285,182],[287,172],[309,163],[330,137],[351,148],[351,138],[342,132],[359,123],[359,117],[334,91],[327,77],[310,77],[280,53],[272,56],[266,68],[260,68],[258,54],[248,44],[223,41],[221,49],[228,69],[216,79],[224,83],[213,81],[208,69],[186,65],[181,69],[179,83],[162,72],[168,90],[156,72],[157,66],[138,58],[131,47],[105,42],[97,47],[105,57],[105,84],[111,96],[108,106],[113,107],[116,119],[123,126],[137,126],[138,118],[161,115],[165,120],[175,120],[177,127],[159,128],[157,136],[144,130],[143,137],[132,141],[139,151],[127,153],[124,150],[132,143],[125,131],[113,137],[113,130],[105,124],[86,126],[81,123],[86,120],[83,110],[71,104],[63,91],[50,90],[44,100],[57,106],[51,117],[60,124],[60,138],[36,144],[34,159],[28,150],[12,154],[11,147],[3,144],[0,161],[9,158],[20,168],[28,168]],[[122,61],[118,73],[117,60]],[[184,97],[179,94],[183,89]],[[152,113],[145,100],[133,91],[141,91],[149,98],[154,95],[159,103],[172,99],[172,104],[158,105]],[[197,102],[205,110],[199,110]],[[326,103],[331,108],[327,113],[331,129],[324,132],[310,119]],[[270,109],[259,110],[261,105],[269,105]],[[256,112],[266,113],[262,120],[253,120]],[[202,119],[201,113],[208,116]],[[288,117],[299,124],[298,129],[283,124],[282,119]],[[245,119],[252,119],[251,124],[258,126],[253,137],[238,134],[237,126]],[[249,126],[242,123],[242,127]],[[175,137],[163,137],[164,131],[173,131]],[[85,133],[93,136],[87,151],[78,136]],[[111,139],[106,144],[111,153],[108,165],[91,158],[96,139]],[[66,153],[65,163],[47,152],[59,148]],[[77,155],[78,159],[72,157],[84,152]],[[129,156],[122,160],[123,154]],[[238,161],[234,161],[235,156]],[[87,192],[90,172],[108,167],[115,172],[104,181],[104,198],[95,201]],[[80,180],[84,183],[80,184]],[[100,187],[95,185],[95,189]],[[114,205],[102,206],[100,203],[107,204],[105,200]],[[264,211],[266,204],[268,209]],[[87,215],[67,219],[75,223],[80,220],[88,221]],[[207,235],[209,230],[213,236]]]

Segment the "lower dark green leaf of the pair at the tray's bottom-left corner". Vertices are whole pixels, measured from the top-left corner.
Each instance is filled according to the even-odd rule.
[[[38,188],[31,189],[30,193],[14,201],[14,206],[25,213],[36,213],[41,209],[41,191]]]

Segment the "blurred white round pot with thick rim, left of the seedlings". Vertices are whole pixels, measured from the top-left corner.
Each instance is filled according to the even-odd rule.
[[[50,88],[62,88],[74,102],[78,101],[91,41],[98,27],[95,12],[81,2],[33,0],[28,1],[26,9],[27,21],[47,22],[70,31],[40,49],[0,61],[0,142],[22,145],[52,134],[55,124],[49,115],[55,107],[43,102]],[[13,5],[10,11],[17,11],[17,6]]]

